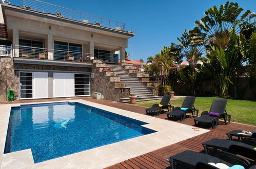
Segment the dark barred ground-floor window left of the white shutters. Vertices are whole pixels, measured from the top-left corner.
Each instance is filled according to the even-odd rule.
[[[33,73],[21,72],[21,98],[32,98],[33,97]]]

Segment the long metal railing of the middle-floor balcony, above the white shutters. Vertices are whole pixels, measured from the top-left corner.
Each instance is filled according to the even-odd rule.
[[[90,53],[77,51],[57,50],[47,48],[36,48],[15,45],[14,52],[16,57],[32,58],[32,59],[48,59],[59,61],[75,61],[75,62],[90,62]]]

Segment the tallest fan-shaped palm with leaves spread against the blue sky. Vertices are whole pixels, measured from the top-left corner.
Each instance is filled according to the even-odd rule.
[[[243,8],[239,7],[238,3],[226,2],[219,9],[216,6],[209,8],[205,11],[206,16],[195,21],[195,25],[206,34],[207,59],[214,68],[215,79],[222,96],[228,95],[237,68],[246,60],[238,45],[237,34],[244,28],[241,24],[249,22],[250,19],[255,18],[255,15],[253,16],[249,10],[241,15],[242,11]]]

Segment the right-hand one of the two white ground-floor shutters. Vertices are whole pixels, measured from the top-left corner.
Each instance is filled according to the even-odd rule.
[[[74,96],[74,74],[53,73],[53,97]]]

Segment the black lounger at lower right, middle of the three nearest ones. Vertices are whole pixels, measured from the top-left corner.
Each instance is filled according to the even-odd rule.
[[[208,140],[203,144],[206,154],[209,154],[209,147],[213,148],[215,151],[220,149],[225,152],[229,152],[235,155],[241,155],[246,158],[250,158],[252,160],[256,159],[256,151],[255,146],[252,146],[250,144],[247,144],[245,141],[239,142],[239,141],[231,141],[231,140],[225,140],[225,139],[219,139],[219,138],[213,138],[211,140]]]

